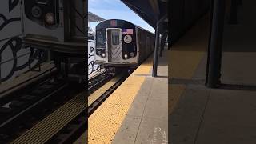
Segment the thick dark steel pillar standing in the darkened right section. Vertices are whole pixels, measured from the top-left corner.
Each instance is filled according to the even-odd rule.
[[[213,0],[212,24],[206,70],[206,86],[216,88],[221,84],[222,35],[225,18],[225,1]]]

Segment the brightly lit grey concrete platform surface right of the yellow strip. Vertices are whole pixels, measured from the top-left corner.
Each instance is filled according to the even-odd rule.
[[[158,62],[158,77],[146,75],[114,144],[168,143],[168,63],[166,51]],[[139,76],[139,75],[138,75]]]

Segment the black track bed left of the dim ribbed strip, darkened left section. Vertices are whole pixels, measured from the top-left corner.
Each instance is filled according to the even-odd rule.
[[[59,97],[67,86],[66,81],[48,78],[31,86],[31,90],[19,90],[14,97],[10,96],[9,101],[3,101],[0,107],[0,143],[9,143],[68,100],[70,97]]]

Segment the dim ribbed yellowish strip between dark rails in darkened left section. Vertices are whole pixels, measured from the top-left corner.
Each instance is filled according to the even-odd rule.
[[[58,133],[68,122],[71,122],[78,114],[81,114],[86,109],[86,94],[78,94],[75,98],[66,102],[65,105],[54,111],[43,121],[38,122],[30,130],[27,130],[25,134],[22,134],[19,138],[12,143],[45,143],[54,134]]]

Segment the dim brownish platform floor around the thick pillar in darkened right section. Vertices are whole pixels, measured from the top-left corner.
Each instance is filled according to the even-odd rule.
[[[170,143],[256,142],[256,21],[250,18],[256,10],[254,4],[249,3],[243,2],[244,9],[239,7],[238,25],[225,22],[222,86],[218,89],[205,86],[207,18],[202,18],[172,47],[169,54]]]

